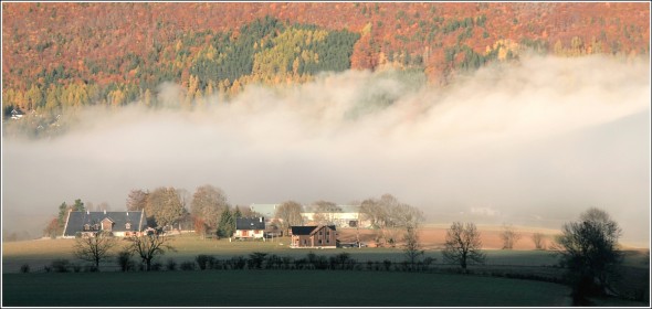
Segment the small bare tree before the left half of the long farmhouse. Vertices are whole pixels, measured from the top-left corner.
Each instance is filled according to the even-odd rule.
[[[95,269],[99,270],[99,263],[112,257],[112,249],[116,246],[116,239],[107,232],[98,232],[94,237],[75,239],[74,256],[78,259],[91,262]]]

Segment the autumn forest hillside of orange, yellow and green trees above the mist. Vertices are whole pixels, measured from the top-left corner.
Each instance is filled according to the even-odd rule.
[[[156,106],[164,82],[186,105],[322,71],[392,66],[445,84],[525,50],[649,54],[649,20],[643,2],[2,3],[2,108],[38,136],[82,106]]]

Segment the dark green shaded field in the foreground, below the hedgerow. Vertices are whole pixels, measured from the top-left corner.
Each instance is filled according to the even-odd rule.
[[[3,274],[3,306],[568,306],[561,285],[341,270]]]

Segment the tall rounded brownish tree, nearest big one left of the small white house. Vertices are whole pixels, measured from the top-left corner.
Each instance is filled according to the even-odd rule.
[[[192,194],[190,213],[208,227],[209,231],[217,231],[220,215],[229,207],[224,192],[210,184],[197,188]]]

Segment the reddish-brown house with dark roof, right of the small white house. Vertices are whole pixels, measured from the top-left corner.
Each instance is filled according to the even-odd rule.
[[[292,226],[292,248],[335,248],[337,232],[335,225]]]

